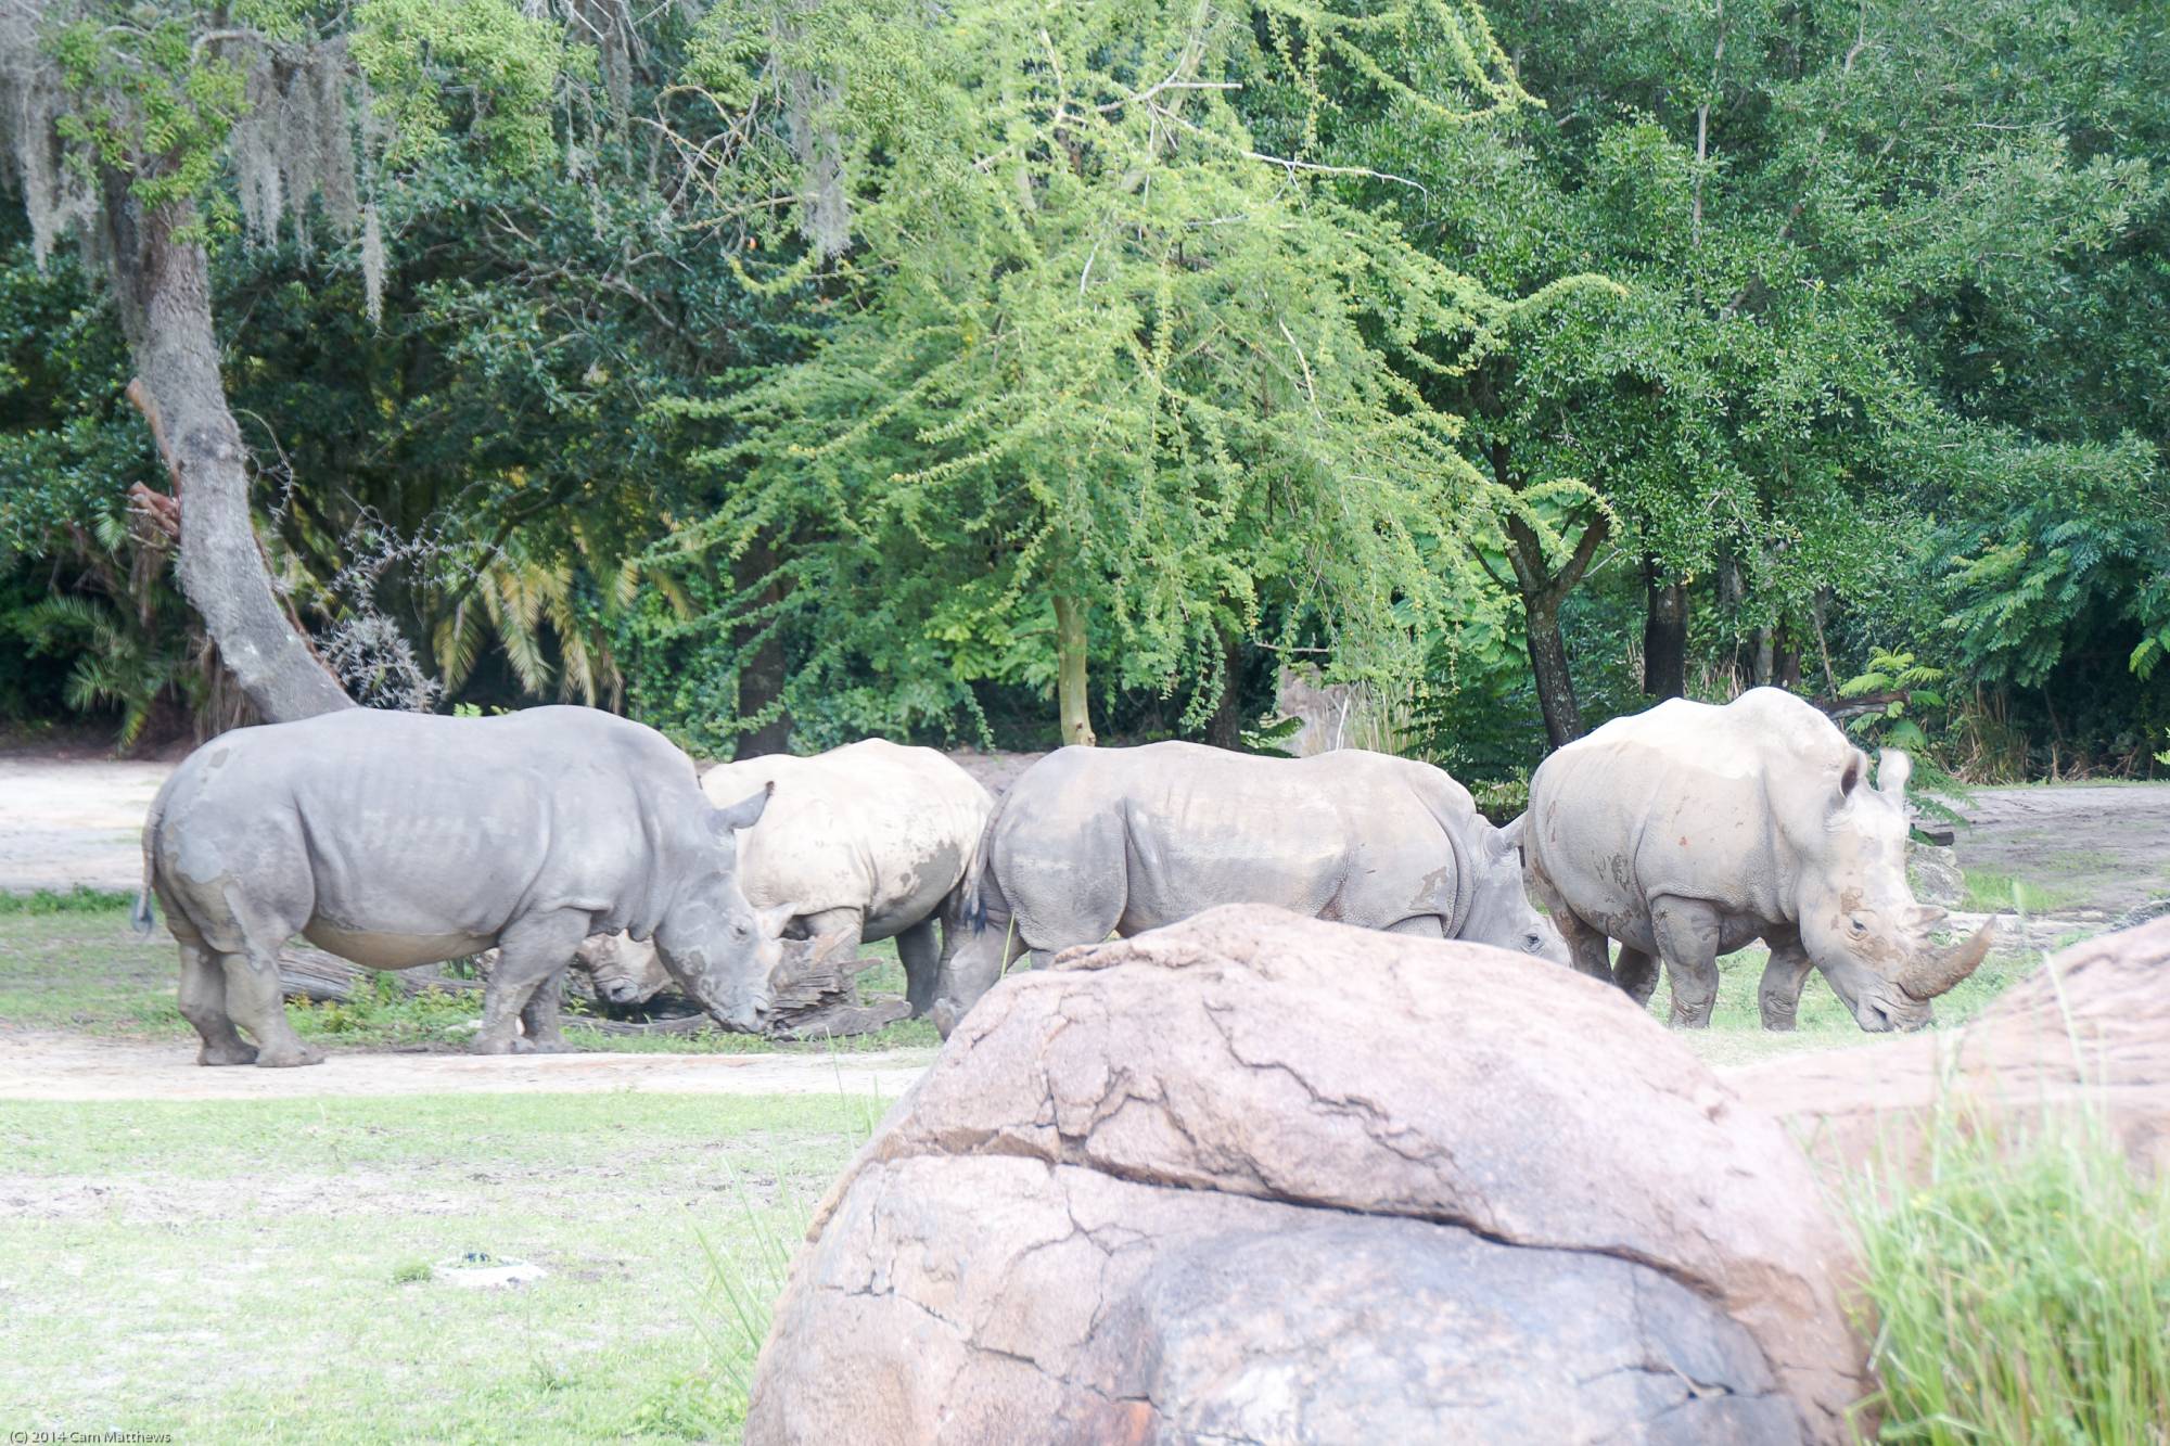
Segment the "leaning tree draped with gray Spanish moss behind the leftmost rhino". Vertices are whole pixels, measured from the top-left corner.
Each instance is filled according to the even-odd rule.
[[[145,504],[176,528],[182,591],[265,719],[352,699],[256,541],[206,243],[237,221],[306,228],[317,202],[360,248],[375,308],[384,234],[365,172],[427,152],[456,115],[508,163],[534,161],[551,148],[562,56],[556,26],[501,0],[0,0],[0,139],[37,250],[74,232],[111,282],[174,489]]]

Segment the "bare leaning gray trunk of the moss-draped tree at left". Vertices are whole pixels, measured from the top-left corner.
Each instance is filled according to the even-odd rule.
[[[250,521],[241,428],[226,404],[219,339],[210,326],[210,263],[176,239],[197,224],[189,206],[143,211],[126,176],[106,176],[113,289],[150,391],[156,430],[171,445],[180,499],[180,591],[241,693],[271,723],[354,708],[295,627],[265,567]]]

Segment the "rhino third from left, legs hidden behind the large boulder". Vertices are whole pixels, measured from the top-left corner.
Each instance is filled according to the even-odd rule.
[[[1565,964],[1523,895],[1517,829],[1486,823],[1441,769],[1387,753],[1065,747],[1026,769],[987,823],[972,931],[944,971],[935,1023],[948,1033],[1022,953],[1042,966],[1217,903]]]

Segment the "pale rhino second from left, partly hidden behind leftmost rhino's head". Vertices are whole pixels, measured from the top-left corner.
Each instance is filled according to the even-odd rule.
[[[809,758],[718,764],[701,788],[710,799],[775,788],[760,825],[738,836],[738,881],[757,910],[760,936],[738,955],[731,1027],[762,1027],[779,938],[827,938],[846,953],[894,938],[911,1010],[933,1005],[955,944],[959,886],[994,808],[970,773],[933,749],[866,738]],[[612,1003],[662,986],[638,944],[590,942],[582,955],[597,994]]]

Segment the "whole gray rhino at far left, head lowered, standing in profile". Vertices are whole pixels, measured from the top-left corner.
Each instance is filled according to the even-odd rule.
[[[280,1001],[293,934],[371,968],[497,947],[475,1049],[562,1049],[558,988],[588,934],[653,936],[703,1007],[725,960],[779,951],[738,888],[736,834],[766,803],[712,808],[662,734],[588,708],[243,727],[189,753],[152,801],[137,925],[156,895],[202,1064],[323,1060]]]

